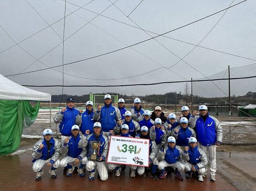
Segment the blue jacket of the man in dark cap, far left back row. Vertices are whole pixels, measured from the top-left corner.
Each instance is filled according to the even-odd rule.
[[[54,122],[58,123],[61,121],[59,126],[61,135],[68,137],[72,135],[71,127],[75,125],[75,119],[78,113],[79,111],[77,109],[67,107],[64,113],[60,111],[55,115]]]

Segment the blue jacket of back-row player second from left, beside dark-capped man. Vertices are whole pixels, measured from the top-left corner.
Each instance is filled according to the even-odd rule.
[[[93,120],[93,114],[93,110],[89,113],[88,109],[82,113],[82,123],[80,125],[82,134],[85,134],[86,130],[90,130],[90,133],[93,132],[93,124],[95,123],[95,120]]]

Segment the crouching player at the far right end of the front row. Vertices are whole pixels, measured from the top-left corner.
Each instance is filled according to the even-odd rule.
[[[205,167],[208,164],[207,156],[202,149],[198,148],[195,137],[190,137],[188,142],[189,148],[185,148],[182,156],[184,161],[188,161],[184,163],[186,178],[188,179],[193,172],[198,177],[198,181],[202,182]]]

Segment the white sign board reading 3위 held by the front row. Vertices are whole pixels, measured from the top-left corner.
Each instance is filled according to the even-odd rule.
[[[149,167],[149,139],[111,136],[107,163]]]

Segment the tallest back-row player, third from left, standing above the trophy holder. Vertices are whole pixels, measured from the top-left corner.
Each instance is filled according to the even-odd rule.
[[[108,137],[110,130],[116,126],[116,122],[121,120],[121,114],[117,107],[112,106],[112,99],[109,94],[104,96],[104,106],[98,106],[97,111],[93,115],[95,121],[99,121],[102,126],[103,134]]]

